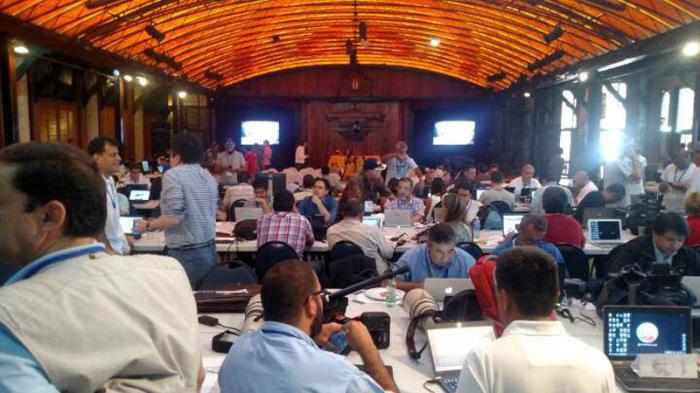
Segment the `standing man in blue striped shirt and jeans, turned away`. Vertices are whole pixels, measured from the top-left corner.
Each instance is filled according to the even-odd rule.
[[[167,254],[182,264],[190,285],[197,283],[218,263],[214,236],[218,186],[200,163],[202,145],[190,134],[173,138],[170,162],[160,194],[162,215],[138,224],[138,231],[165,231]]]

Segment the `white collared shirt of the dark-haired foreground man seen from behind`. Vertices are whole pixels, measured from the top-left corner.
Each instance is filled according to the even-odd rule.
[[[566,389],[563,389],[566,387]],[[503,335],[464,360],[458,393],[617,392],[598,349],[566,333],[559,321],[513,321]]]

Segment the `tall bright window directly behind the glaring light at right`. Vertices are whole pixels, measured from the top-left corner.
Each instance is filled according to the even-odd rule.
[[[627,98],[626,83],[613,82],[610,86],[621,98]],[[624,103],[618,100],[605,85],[603,86],[601,111],[599,143],[603,160],[609,162],[615,160],[619,155],[627,126],[627,110]]]

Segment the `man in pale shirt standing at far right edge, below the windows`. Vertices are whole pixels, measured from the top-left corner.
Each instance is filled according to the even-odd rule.
[[[688,159],[688,152],[681,151],[676,155],[672,164],[669,164],[661,174],[659,191],[664,196],[664,209],[672,213],[683,213],[685,193],[690,188],[695,171],[695,164]]]

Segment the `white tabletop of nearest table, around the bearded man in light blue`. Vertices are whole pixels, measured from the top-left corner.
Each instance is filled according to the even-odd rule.
[[[426,350],[419,361],[415,361],[408,356],[406,350],[405,338],[406,328],[410,322],[408,314],[403,310],[401,305],[389,308],[382,302],[372,301],[364,294],[358,293],[349,296],[349,305],[346,315],[349,317],[359,316],[365,311],[383,311],[391,316],[390,335],[391,341],[389,348],[380,350],[380,354],[384,363],[393,368],[394,379],[403,393],[424,393],[428,390],[423,388],[423,384],[433,378],[433,368],[430,351]],[[569,320],[561,319],[566,331],[585,343],[603,350],[603,322],[595,313],[592,305],[583,305],[577,300],[571,306],[571,311],[574,317],[584,316],[592,318],[596,326],[591,326],[580,320],[570,322]],[[203,315],[203,314],[202,314]],[[240,328],[243,324],[242,313],[229,314],[206,314],[219,319],[223,325]],[[207,373],[203,393],[219,392],[217,383],[219,367],[225,358],[225,354],[216,353],[211,349],[211,339],[214,335],[221,333],[224,328],[209,327],[199,325],[199,344],[202,350],[203,365]],[[416,346],[420,347],[426,342],[425,334],[418,330],[415,336]],[[235,347],[235,343],[234,343]],[[360,356],[357,352],[350,352],[347,360],[352,364],[362,364]],[[332,370],[328,370],[332,372]],[[434,392],[441,392],[442,389],[435,384],[429,384],[428,387]],[[622,390],[621,390],[622,391]]]

